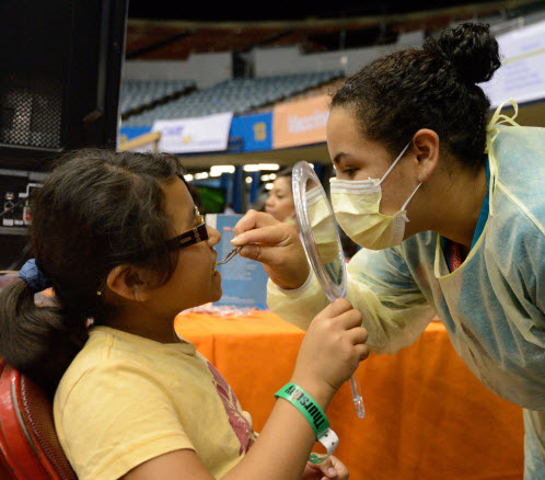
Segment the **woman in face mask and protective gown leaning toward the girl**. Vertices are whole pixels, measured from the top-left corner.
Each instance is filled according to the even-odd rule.
[[[523,407],[524,478],[545,472],[545,129],[488,123],[478,83],[500,66],[487,25],[379,58],[335,93],[332,203],[363,247],[348,298],[375,353],[411,344],[439,316],[473,374]],[[511,125],[501,125],[511,124]],[[289,226],[248,213],[241,255],[269,274],[268,305],[306,328],[327,304]]]

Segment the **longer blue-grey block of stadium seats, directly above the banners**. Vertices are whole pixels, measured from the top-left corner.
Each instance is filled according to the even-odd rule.
[[[344,77],[341,70],[225,80],[130,115],[123,125],[151,125],[155,119],[198,117],[221,112],[233,112],[235,115],[251,113],[339,77]]]

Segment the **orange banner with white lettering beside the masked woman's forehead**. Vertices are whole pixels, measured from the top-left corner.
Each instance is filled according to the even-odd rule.
[[[286,148],[325,141],[329,96],[282,103],[272,111],[272,147]]]

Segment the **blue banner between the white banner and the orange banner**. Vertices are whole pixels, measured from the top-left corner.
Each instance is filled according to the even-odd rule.
[[[272,113],[234,116],[229,130],[229,151],[272,149]]]

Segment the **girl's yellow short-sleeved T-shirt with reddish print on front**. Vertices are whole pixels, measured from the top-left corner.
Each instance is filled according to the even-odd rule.
[[[95,327],[54,401],[60,444],[80,480],[117,479],[189,448],[216,478],[255,439],[252,419],[190,343],[162,344]]]

